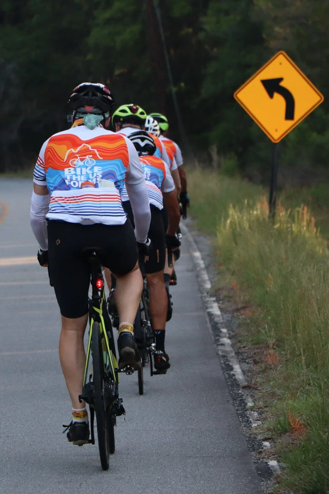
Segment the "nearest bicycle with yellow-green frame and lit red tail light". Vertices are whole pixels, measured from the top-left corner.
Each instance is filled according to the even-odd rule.
[[[92,297],[89,299],[89,337],[82,395],[90,410],[90,444],[95,444],[94,416],[96,413],[98,448],[103,470],[109,468],[110,454],[115,451],[114,426],[116,417],[125,415],[122,399],[119,398],[118,373],[132,374],[127,366],[118,369],[114,336],[106,308],[104,278],[97,248],[83,249],[88,254],[91,270]],[[92,357],[92,372],[88,368]]]

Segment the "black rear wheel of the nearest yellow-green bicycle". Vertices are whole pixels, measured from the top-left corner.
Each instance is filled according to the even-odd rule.
[[[94,407],[97,421],[98,449],[103,470],[109,469],[110,453],[114,452],[114,425],[105,405],[105,369],[99,324],[94,322],[91,336],[93,356]]]

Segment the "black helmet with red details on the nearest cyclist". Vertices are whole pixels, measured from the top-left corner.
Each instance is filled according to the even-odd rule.
[[[82,82],[74,87],[69,103],[73,112],[105,114],[110,112],[114,99],[104,84]]]

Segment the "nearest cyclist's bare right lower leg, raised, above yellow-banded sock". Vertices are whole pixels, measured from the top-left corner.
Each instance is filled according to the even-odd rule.
[[[119,321],[133,326],[143,289],[143,277],[138,262],[130,273],[123,276],[115,276],[115,300]]]

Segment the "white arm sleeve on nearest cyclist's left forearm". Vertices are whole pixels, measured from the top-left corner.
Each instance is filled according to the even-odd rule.
[[[46,214],[49,209],[50,196],[38,196],[32,193],[31,200],[31,227],[42,250],[48,249]]]

